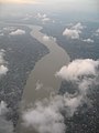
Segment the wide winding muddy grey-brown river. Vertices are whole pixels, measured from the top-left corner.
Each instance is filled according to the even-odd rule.
[[[41,32],[42,27],[26,25],[31,31],[31,35],[38,42],[44,44],[50,53],[38,60],[31,71],[31,74],[26,81],[26,85],[22,95],[21,110],[25,106],[25,110],[34,104],[36,101],[42,101],[54,92],[57,93],[62,80],[55,76],[55,73],[63,66],[68,64],[69,55],[64,49],[62,49],[53,38],[44,39],[45,34]],[[20,120],[21,121],[21,120]],[[21,126],[19,121],[16,131],[18,133],[33,133],[30,129]]]

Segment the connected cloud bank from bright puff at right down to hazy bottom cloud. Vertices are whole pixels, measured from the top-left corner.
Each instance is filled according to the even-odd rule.
[[[89,104],[87,94],[99,76],[99,61],[92,59],[77,59],[68,65],[63,66],[56,76],[76,84],[74,94],[65,92],[63,95],[52,95],[50,99],[38,101],[23,112],[23,126],[32,127],[38,133],[65,133],[67,125],[66,117],[72,117],[78,108],[84,103]]]

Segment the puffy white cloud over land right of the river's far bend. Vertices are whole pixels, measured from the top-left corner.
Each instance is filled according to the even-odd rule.
[[[84,29],[84,27],[79,22],[69,29],[66,28],[65,31],[63,32],[63,35],[65,35],[69,39],[79,39],[79,35],[80,35],[82,29]]]

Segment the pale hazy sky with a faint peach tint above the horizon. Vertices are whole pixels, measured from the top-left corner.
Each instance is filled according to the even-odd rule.
[[[78,17],[90,14],[90,18],[95,14],[99,14],[99,0],[0,0],[1,14],[21,14],[29,12],[42,11],[48,12],[64,12],[74,13],[77,12]]]

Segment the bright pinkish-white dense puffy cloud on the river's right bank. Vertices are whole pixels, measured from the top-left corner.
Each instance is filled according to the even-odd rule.
[[[78,81],[81,76],[97,75],[99,61],[92,59],[74,60],[68,65],[64,65],[57,73],[57,76],[66,81]]]

